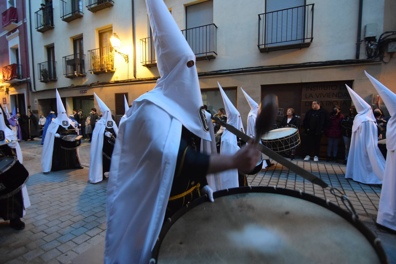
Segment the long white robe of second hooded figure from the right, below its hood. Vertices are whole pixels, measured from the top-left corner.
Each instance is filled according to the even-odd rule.
[[[345,178],[366,184],[382,183],[385,159],[377,144],[375,123],[373,121],[360,123],[352,132]]]

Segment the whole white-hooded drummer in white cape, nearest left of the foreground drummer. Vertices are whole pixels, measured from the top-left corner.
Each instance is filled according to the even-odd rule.
[[[102,112],[102,118],[96,122],[92,132],[91,156],[89,160],[89,182],[96,183],[105,179],[103,174],[110,171],[111,156],[114,148],[112,139],[117,137],[118,127],[111,117],[109,107],[103,103],[96,93],[93,94]]]

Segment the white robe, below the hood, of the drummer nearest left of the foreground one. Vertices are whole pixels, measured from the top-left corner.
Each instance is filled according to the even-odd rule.
[[[102,151],[103,151],[103,137],[105,136],[106,123],[108,120],[105,118],[101,118],[96,124],[95,128],[92,132],[92,141],[91,141],[91,156],[89,160],[89,182],[96,183],[103,180],[103,160],[102,160]],[[116,122],[113,121],[113,129],[114,132],[118,133],[118,127]]]

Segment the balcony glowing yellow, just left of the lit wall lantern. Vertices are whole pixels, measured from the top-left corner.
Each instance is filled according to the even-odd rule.
[[[116,71],[114,68],[114,51],[111,46],[89,50],[88,61],[92,74]]]

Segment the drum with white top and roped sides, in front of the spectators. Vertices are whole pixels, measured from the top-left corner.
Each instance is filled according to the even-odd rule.
[[[301,140],[297,128],[281,127],[268,131],[268,133],[261,137],[261,142],[274,152],[285,153],[287,150],[297,148]]]

